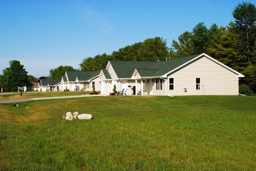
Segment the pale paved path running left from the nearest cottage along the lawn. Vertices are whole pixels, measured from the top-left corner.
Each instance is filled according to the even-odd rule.
[[[83,95],[71,95],[71,96],[56,96],[56,97],[35,97],[35,98],[24,98],[24,99],[10,99],[10,100],[0,100],[0,103],[19,103],[27,102],[33,100],[45,100],[45,99],[67,99],[67,98],[76,98],[76,97],[92,97],[92,96],[106,96],[102,94],[83,94]]]

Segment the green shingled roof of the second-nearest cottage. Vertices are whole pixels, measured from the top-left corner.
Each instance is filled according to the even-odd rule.
[[[69,82],[75,82],[76,77],[80,81],[92,79],[100,74],[100,71],[67,71]]]

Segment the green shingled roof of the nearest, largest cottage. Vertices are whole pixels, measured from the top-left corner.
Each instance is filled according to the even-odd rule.
[[[131,78],[135,69],[137,69],[141,77],[161,77],[167,72],[170,72],[171,70],[180,67],[182,64],[196,58],[198,55],[199,54],[159,62],[110,61],[110,63],[118,78]]]

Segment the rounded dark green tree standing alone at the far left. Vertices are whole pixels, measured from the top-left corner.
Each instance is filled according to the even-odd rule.
[[[28,86],[28,72],[24,66],[17,60],[9,61],[10,67],[3,69],[3,75],[0,77],[0,85],[6,92],[15,92],[18,86]]]

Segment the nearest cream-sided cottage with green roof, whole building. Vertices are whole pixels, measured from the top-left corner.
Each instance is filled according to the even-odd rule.
[[[202,53],[166,61],[108,61],[101,70],[101,94],[238,95],[244,75]]]

